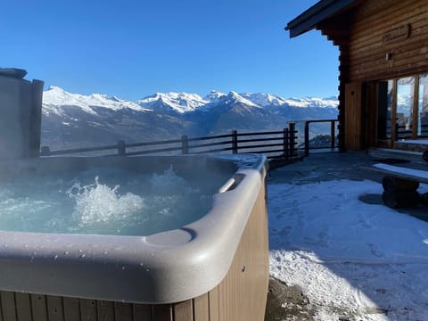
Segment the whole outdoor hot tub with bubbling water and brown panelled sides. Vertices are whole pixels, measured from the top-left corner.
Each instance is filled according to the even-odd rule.
[[[265,157],[1,166],[4,320],[263,320]]]

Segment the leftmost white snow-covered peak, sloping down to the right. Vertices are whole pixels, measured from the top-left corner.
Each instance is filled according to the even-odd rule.
[[[119,111],[124,108],[134,111],[147,111],[136,103],[128,102],[115,96],[102,94],[71,94],[58,86],[50,86],[49,89],[43,93],[43,103],[51,107],[63,105],[78,106],[83,111],[91,114],[96,114],[94,107],[102,107],[113,111]]]

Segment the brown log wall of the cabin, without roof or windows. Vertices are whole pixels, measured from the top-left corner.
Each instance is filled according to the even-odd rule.
[[[379,144],[375,82],[428,72],[428,0],[359,0],[317,29],[340,50],[340,147]],[[347,96],[347,86],[357,83],[364,89],[359,112],[358,101]],[[358,133],[355,115],[362,117]]]

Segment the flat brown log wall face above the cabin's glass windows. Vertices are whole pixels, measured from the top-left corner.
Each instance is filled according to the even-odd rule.
[[[348,82],[428,71],[428,0],[365,1],[349,29]]]

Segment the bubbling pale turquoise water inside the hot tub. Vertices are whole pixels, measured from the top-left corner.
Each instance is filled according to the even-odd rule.
[[[189,181],[172,167],[152,175],[111,168],[61,177],[28,175],[0,184],[0,229],[152,235],[201,218],[223,183],[213,181]]]

